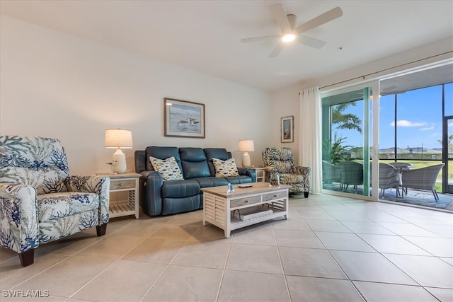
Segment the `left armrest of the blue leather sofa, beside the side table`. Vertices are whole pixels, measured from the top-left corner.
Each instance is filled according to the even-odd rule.
[[[140,206],[149,216],[162,214],[162,185],[164,179],[161,173],[150,170],[139,172],[140,177]]]

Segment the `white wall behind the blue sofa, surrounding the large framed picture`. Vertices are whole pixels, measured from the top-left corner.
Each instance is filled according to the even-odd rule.
[[[0,22],[0,134],[60,139],[71,174],[110,171],[107,128],[132,130],[128,170],[134,150],[151,145],[224,147],[240,163],[238,140],[254,139],[252,164],[261,165],[273,143],[269,93],[14,18]],[[164,137],[165,97],[205,104],[205,139]]]

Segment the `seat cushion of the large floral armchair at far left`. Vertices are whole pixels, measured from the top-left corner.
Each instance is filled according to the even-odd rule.
[[[99,207],[99,195],[84,192],[58,192],[37,197],[38,221],[50,221],[82,214]]]

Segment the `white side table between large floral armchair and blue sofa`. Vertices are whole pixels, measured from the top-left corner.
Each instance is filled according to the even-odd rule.
[[[96,173],[98,176],[110,178],[110,218],[135,215],[139,218],[139,178],[138,173]],[[111,193],[127,192],[127,199],[113,201]],[[117,195],[116,195],[117,197]]]

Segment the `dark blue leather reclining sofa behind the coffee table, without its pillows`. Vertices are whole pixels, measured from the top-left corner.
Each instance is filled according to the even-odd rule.
[[[165,160],[173,156],[183,174],[183,180],[164,180],[154,170],[149,157]],[[135,172],[141,174],[139,201],[149,216],[178,214],[202,209],[203,187],[217,187],[255,182],[252,168],[238,168],[239,176],[217,178],[213,158],[226,161],[231,152],[223,148],[178,148],[174,146],[148,146],[134,153]]]

